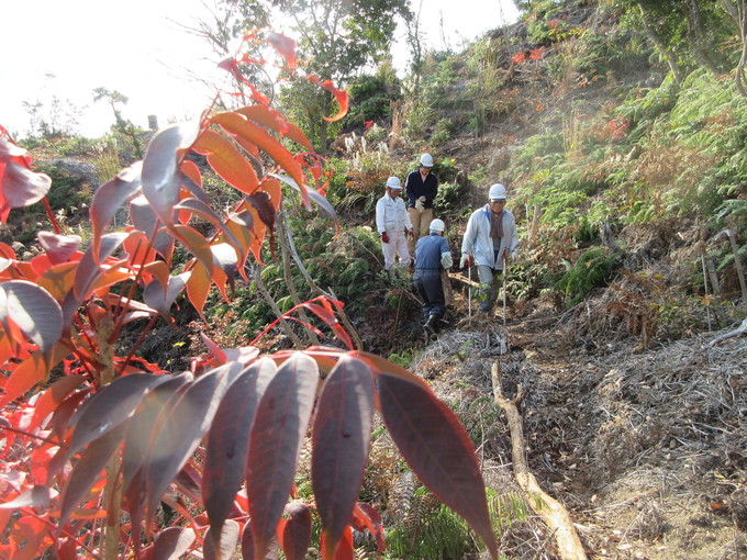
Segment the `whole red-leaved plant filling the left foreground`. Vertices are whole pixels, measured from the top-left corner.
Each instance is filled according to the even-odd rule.
[[[269,41],[297,70],[292,42]],[[242,59],[222,67],[238,79]],[[306,78],[339,103],[328,120],[342,117],[347,93]],[[324,198],[322,158],[252,91],[256,104],[156,133],[142,163],[97,189],[88,245],[54,222],[29,262],[0,244],[0,557],[93,558],[112,547],[135,559],[225,560],[241,547],[245,558],[259,559],[279,546],[300,559],[311,546],[314,509],[324,559],[353,558],[353,528],[369,531],[383,551],[378,513],[357,502],[375,411],[414,472],[495,556],[465,428],[422,379],[353,350],[338,321],[342,301],[319,296],[286,318],[300,322],[294,313],[310,312],[315,325],[304,325],[317,334],[327,328],[347,351],[261,356],[207,340],[210,356],[176,374],[135,357],[159,317],[172,323],[185,294],[202,313],[213,285],[227,299],[238,275],[248,281],[249,259],[263,266],[283,189],[336,217]],[[310,152],[291,153],[286,141]],[[212,203],[191,153],[241,193],[233,208]],[[0,220],[48,188],[0,127]],[[129,221],[116,229],[123,211]],[[209,227],[196,226],[196,217]],[[187,255],[179,268],[176,248]],[[125,340],[123,325],[137,322],[137,340]],[[315,500],[300,501],[293,482],[309,436]],[[177,519],[159,529],[161,502]]]

